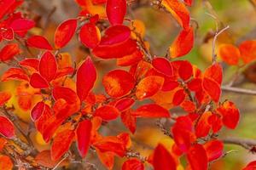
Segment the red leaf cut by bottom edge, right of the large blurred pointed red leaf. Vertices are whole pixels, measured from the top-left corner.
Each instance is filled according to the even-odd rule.
[[[191,170],[207,170],[207,152],[201,144],[193,145],[187,156]]]

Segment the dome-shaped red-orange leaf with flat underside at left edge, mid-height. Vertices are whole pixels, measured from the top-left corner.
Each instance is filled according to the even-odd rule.
[[[28,81],[29,78],[27,77],[26,73],[20,68],[10,68],[8,71],[3,73],[1,77],[1,81],[5,82],[8,80],[25,80]]]

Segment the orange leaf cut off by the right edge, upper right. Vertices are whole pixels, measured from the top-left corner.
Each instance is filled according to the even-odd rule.
[[[241,42],[239,45],[241,59],[245,64],[256,59],[256,40]]]

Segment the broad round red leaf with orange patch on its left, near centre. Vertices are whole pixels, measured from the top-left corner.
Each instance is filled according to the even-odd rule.
[[[114,70],[103,77],[102,84],[108,95],[117,98],[130,93],[134,88],[135,79],[127,71]]]

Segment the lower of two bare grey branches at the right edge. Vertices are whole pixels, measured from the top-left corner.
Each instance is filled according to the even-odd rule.
[[[243,138],[236,138],[236,137],[227,137],[227,138],[220,139],[220,140],[222,140],[224,142],[224,144],[240,145],[241,147],[243,147],[247,150],[252,150],[253,147],[256,147],[256,139],[243,139]]]

